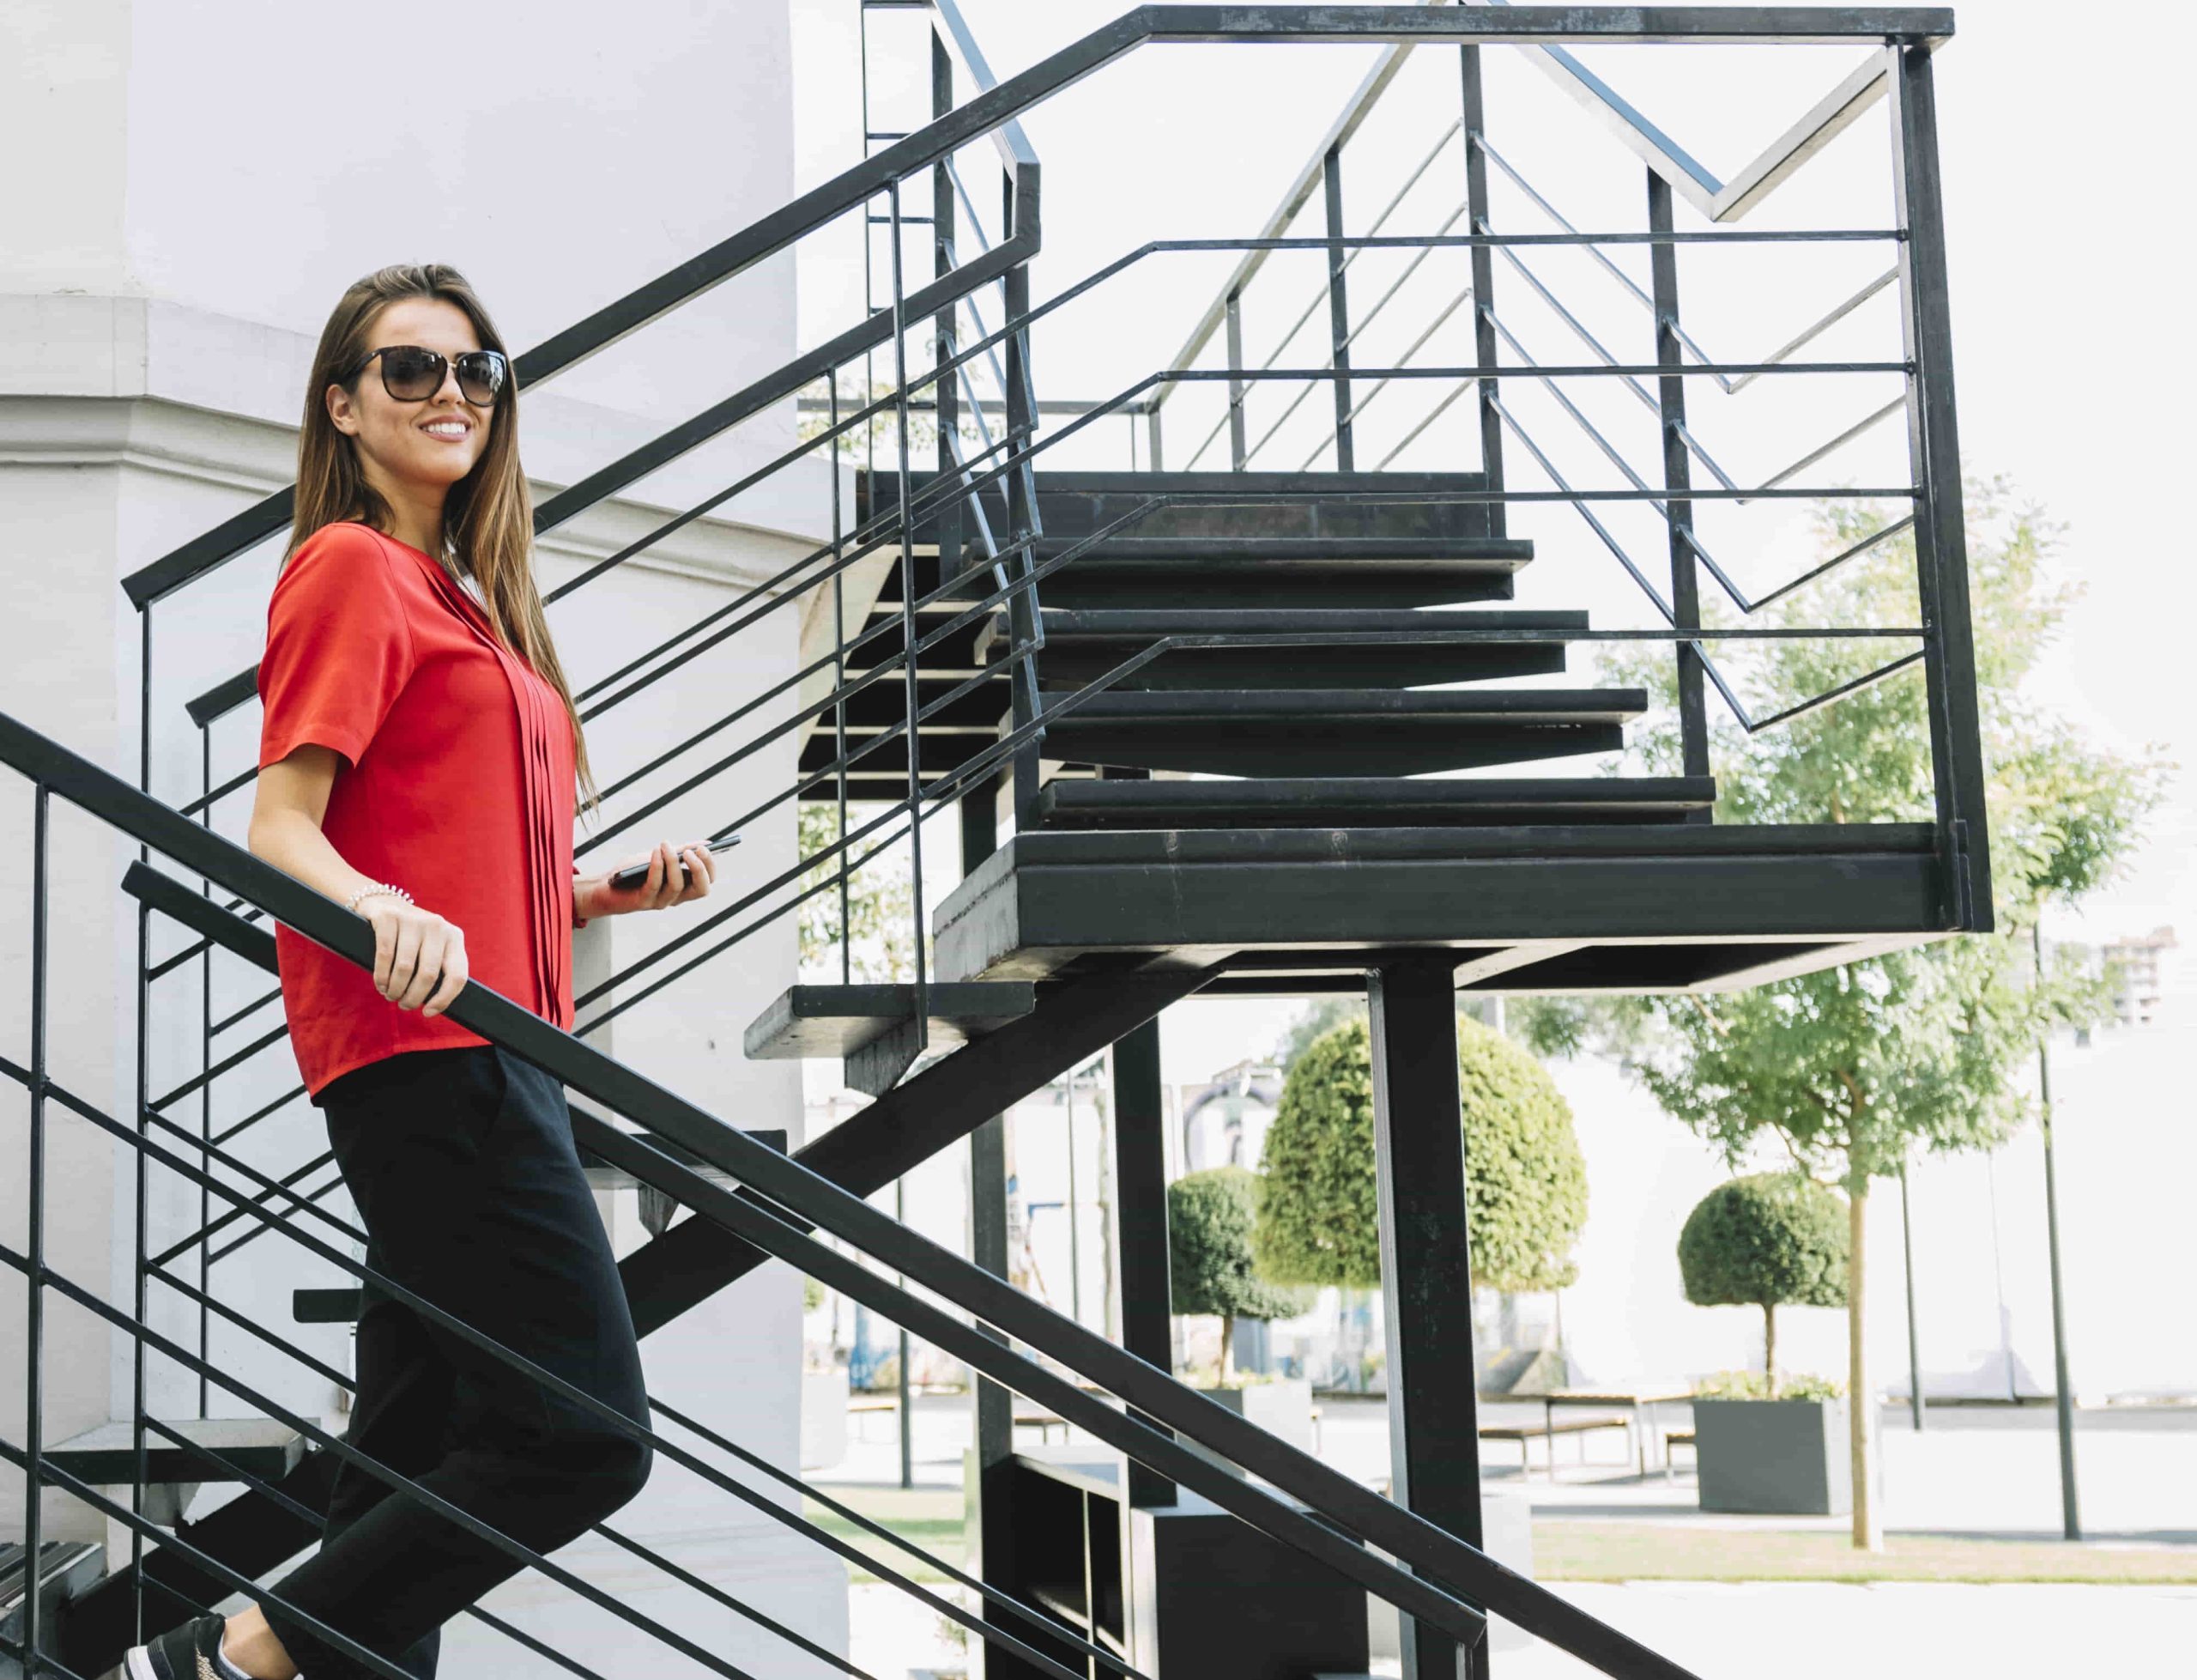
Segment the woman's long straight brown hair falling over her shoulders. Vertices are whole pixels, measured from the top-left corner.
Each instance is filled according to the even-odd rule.
[[[442,262],[400,262],[376,268],[336,301],[321,328],[321,347],[312,354],[312,378],[305,380],[305,422],[297,435],[297,512],[290,521],[290,545],[281,563],[299,545],[341,519],[358,519],[391,534],[395,515],[389,501],[367,484],[358,466],[358,444],[336,429],[327,413],[327,387],[341,385],[354,398],[365,369],[360,361],[373,347],[373,323],[382,310],[406,297],[435,297],[455,303],[472,321],[483,350],[503,350],[503,334],[475,295],[470,281]],[[573,759],[580,767],[582,809],[595,805],[595,776],[587,763],[587,737],[580,730],[580,708],[571,701],[571,684],[549,640],[540,589],[534,585],[534,501],[527,475],[518,466],[518,372],[510,369],[503,389],[488,411],[488,446],[442,504],[442,534],[450,552],[472,570],[488,600],[488,618],[503,644],[523,657],[558,690],[571,717]],[[448,561],[435,556],[448,567]]]

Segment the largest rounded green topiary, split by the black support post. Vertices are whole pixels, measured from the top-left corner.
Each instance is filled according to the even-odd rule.
[[[1586,1161],[1571,1104],[1518,1045],[1457,1020],[1465,1115],[1465,1236],[1472,1282],[1562,1289],[1586,1225]],[[1373,1040],[1362,1018],[1316,1038],[1290,1066],[1265,1132],[1252,1249],[1287,1284],[1380,1282],[1380,1190],[1373,1165]]]

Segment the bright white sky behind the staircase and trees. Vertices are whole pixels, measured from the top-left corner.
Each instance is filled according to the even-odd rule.
[[[1048,0],[1044,7],[962,0],[962,11],[993,70],[1006,77],[1125,7],[1116,0]],[[2120,13],[2122,26],[2107,31],[2070,24],[2078,13],[2041,0],[1969,0],[1955,7],[1955,40],[1938,55],[1936,84],[1964,468],[2008,475],[2017,497],[2059,521],[2063,539],[2054,565],[2059,576],[2083,587],[2059,644],[2034,675],[2037,697],[2124,754],[2155,748],[2184,765],[2127,877],[2094,895],[2078,915],[2048,924],[2048,932],[2096,941],[2177,926],[2188,946],[2197,939],[2197,704],[2186,684],[2184,638],[2197,616],[2197,556],[2179,490],[2197,424],[2186,396],[2190,350],[2182,308],[2190,270],[2188,218],[2177,213],[2182,194],[2162,178],[2188,152],[2179,73],[2197,46],[2197,29],[2186,9],[2144,4],[2142,11],[2140,29],[2129,29],[2129,15]],[[841,92],[852,66],[852,15],[846,0],[793,0],[802,187],[859,156],[859,110]],[[910,97],[921,97],[923,88],[905,77],[916,59],[905,42],[896,57],[883,51],[885,29],[903,22],[892,13],[872,15],[877,128],[910,128],[923,117],[921,108],[910,110]],[[1072,286],[1145,240],[1257,233],[1373,55],[1375,48],[1147,48],[1030,112],[1026,130],[1046,172],[1046,244],[1033,264],[1033,297],[1041,301]],[[1591,55],[1591,64],[1683,147],[1731,178],[1859,57],[1848,48],[1606,48]],[[1380,117],[1351,143],[1345,154],[1349,231],[1364,231],[1371,209],[1437,143],[1441,123],[1454,114],[1452,66],[1454,57],[1441,51],[1417,53]],[[1518,53],[1490,53],[1487,99],[1492,143],[1575,224],[1643,226],[1639,163],[1591,128]],[[1450,147],[1454,152],[1454,141]],[[962,169],[986,224],[995,226],[997,167],[986,154],[969,152]],[[1454,161],[1443,158],[1428,189],[1404,200],[1391,231],[1432,231],[1457,178]],[[1531,231],[1534,215],[1516,194],[1505,198],[1509,189],[1501,180],[1496,191],[1496,224]],[[1878,106],[1742,226],[1889,226],[1892,220],[1887,108]],[[1700,222],[1681,207],[1679,226]],[[1296,231],[1314,229],[1301,224]],[[1635,255],[1626,253],[1624,262],[1646,279]],[[1870,277],[1870,259],[1881,268],[1883,255],[1883,248],[1861,246],[1753,246],[1744,259],[1683,251],[1685,319],[1714,354],[1749,361],[1850,295]],[[1617,297],[1606,277],[1577,264],[1560,273],[1560,259],[1536,257],[1551,284],[1560,281],[1582,323],[1630,358],[1648,358],[1635,306]],[[1063,310],[1041,325],[1033,350],[1041,396],[1101,398],[1167,365],[1230,262],[1215,253],[1142,262],[1109,281],[1112,290],[1081,314]],[[1404,259],[1382,259],[1386,268],[1362,262],[1351,281],[1353,312],[1367,297],[1380,297]],[[1446,257],[1428,262],[1410,281],[1395,281],[1402,286],[1395,314],[1408,332],[1437,314],[1441,286],[1450,284],[1435,273],[1441,262]],[[1318,297],[1318,273],[1307,264],[1318,264],[1318,255],[1276,257],[1252,288],[1246,303],[1252,361],[1265,354],[1296,306]],[[1272,299],[1261,301],[1261,288]],[[800,290],[804,343],[848,325],[861,308],[859,246],[813,240],[804,248]],[[1896,356],[1892,306],[1892,292],[1878,297],[1810,354]],[[1586,358],[1547,317],[1534,319],[1525,288],[1501,273],[1498,308],[1520,323],[1520,339],[1540,361]],[[1459,312],[1448,336],[1430,341],[1419,361],[1470,361],[1470,347],[1457,339],[1465,319]],[[1408,332],[1386,343],[1369,339],[1367,354],[1408,343]],[[1303,339],[1296,350],[1281,365],[1316,361]],[[1883,400],[1881,391],[1881,385],[1854,380],[1817,400],[1797,380],[1782,387],[1766,380],[1727,400],[1705,394],[1696,380],[1689,420],[1738,482],[1760,482],[1821,442],[1830,429],[1826,418],[1832,424],[1837,416],[1859,418]],[[1540,394],[1507,383],[1505,396],[1531,429],[1560,431]],[[1257,400],[1268,402],[1263,389]],[[1406,413],[1415,400],[1417,394],[1395,394]],[[1325,398],[1307,402],[1298,422],[1323,405]],[[1191,407],[1189,391],[1182,407]],[[1626,409],[1610,383],[1582,396],[1582,409],[1641,471],[1652,468],[1654,433],[1641,429],[1641,416]],[[1279,400],[1263,409],[1276,411]],[[1472,466],[1468,444],[1463,455],[1443,453],[1463,442],[1463,418],[1465,405],[1459,405],[1448,424],[1437,422],[1399,464]],[[1186,427],[1182,435],[1195,440],[1202,431]],[[1369,422],[1367,433],[1375,431]],[[1169,435],[1178,435],[1173,420]],[[1257,464],[1296,466],[1301,457],[1285,449],[1290,438],[1290,431],[1279,433],[1274,455]],[[1107,449],[1114,453],[1103,453]],[[1094,433],[1079,464],[1123,464],[1123,449],[1116,424]],[[1178,449],[1169,444],[1171,466],[1182,464]],[[1208,455],[1200,464],[1226,462]],[[1560,455],[1560,464],[1575,484],[1613,482],[1608,466],[1584,446]],[[1865,435],[1815,473],[1797,482],[1905,482],[1900,429]],[[1813,559],[1810,532],[1791,506],[1725,506],[1714,517],[1711,526],[1705,515],[1703,532],[1755,592]],[[1630,583],[1573,512],[1538,510],[1520,519],[1540,554],[1520,605],[1582,605],[1597,625],[1648,622]],[[1610,526],[1628,545],[1654,537],[1637,521],[1626,526],[1617,512]],[[2179,1025],[2162,1031],[2186,1042],[2197,1020],[2197,963],[2184,959],[2168,974],[2179,987],[2171,1016]],[[1296,1007],[1239,998],[1171,1012],[1162,1027],[1164,1077],[1193,1084],[1235,1060],[1263,1055]],[[2162,1084],[2171,1053],[2166,1040],[2129,1055],[2100,1047],[2087,1060],[2072,1058],[2067,1069],[2070,1161],[2063,1170],[2070,1185],[2063,1194],[2072,1289],[2087,1337],[2078,1352],[2089,1355],[2087,1366],[2078,1363],[2078,1385],[2092,1379],[2107,1388],[2157,1385],[2186,1377],[2186,1339],[2162,1344],[2142,1304],[2127,1302],[2114,1282],[2116,1269],[2131,1260],[2131,1231],[2173,1225],[2166,1205],[2124,1218],[2129,1209],[2111,1187],[2114,1161],[2129,1150],[2162,1163],[2182,1154],[2173,1117],[2160,1104],[2171,1088]],[[1566,1066],[1558,1069],[1558,1080],[1573,1097],[1591,1157],[1630,1161],[1630,1150],[1668,1179],[1637,1207],[1604,1203],[1588,1231],[1599,1245],[1593,1269],[1604,1278],[1668,1269],[1663,1227],[1683,1216],[1722,1168],[1641,1093],[1626,1091],[1615,1071]],[[2162,1124],[2168,1130],[2162,1132]],[[2074,1159],[2083,1148],[2092,1154]],[[1918,1218],[1925,1223],[1918,1240],[1929,1267],[1925,1328],[1936,1344],[1927,1363],[1969,1368],[2004,1335],[2032,1370],[2048,1368],[2041,1256],[2032,1240],[2041,1227],[2034,1179],[2034,1137],[1995,1161],[1942,1163],[1918,1176]],[[2168,1256],[2155,1258],[2164,1264]],[[1898,1264],[1896,1253],[1887,1264]],[[1641,1319],[1643,1300],[1670,1311]],[[2012,1330],[2001,1330],[2001,1304]],[[1621,1291],[1606,1306],[1606,1324],[1595,1333],[1613,1370],[1646,1357],[1641,1350],[1650,1341],[1661,1346],[1679,1335],[1687,1313],[1670,1280]],[[1582,1302],[1580,1311],[1593,1308]],[[1591,1322],[1573,1328],[1593,1330]],[[1834,1363],[1834,1326],[1808,1335],[1824,1341],[1821,1361]]]

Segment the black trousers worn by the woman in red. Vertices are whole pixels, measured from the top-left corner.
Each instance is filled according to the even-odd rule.
[[[373,1271],[648,1423],[633,1315],[556,1080],[468,1045],[369,1062],[316,1102]],[[349,1443],[536,1552],[626,1504],[653,1456],[371,1282]],[[321,1550],[272,1592],[431,1680],[442,1623],[521,1568],[345,1460]],[[305,1680],[369,1673],[281,1605],[261,1610]]]

